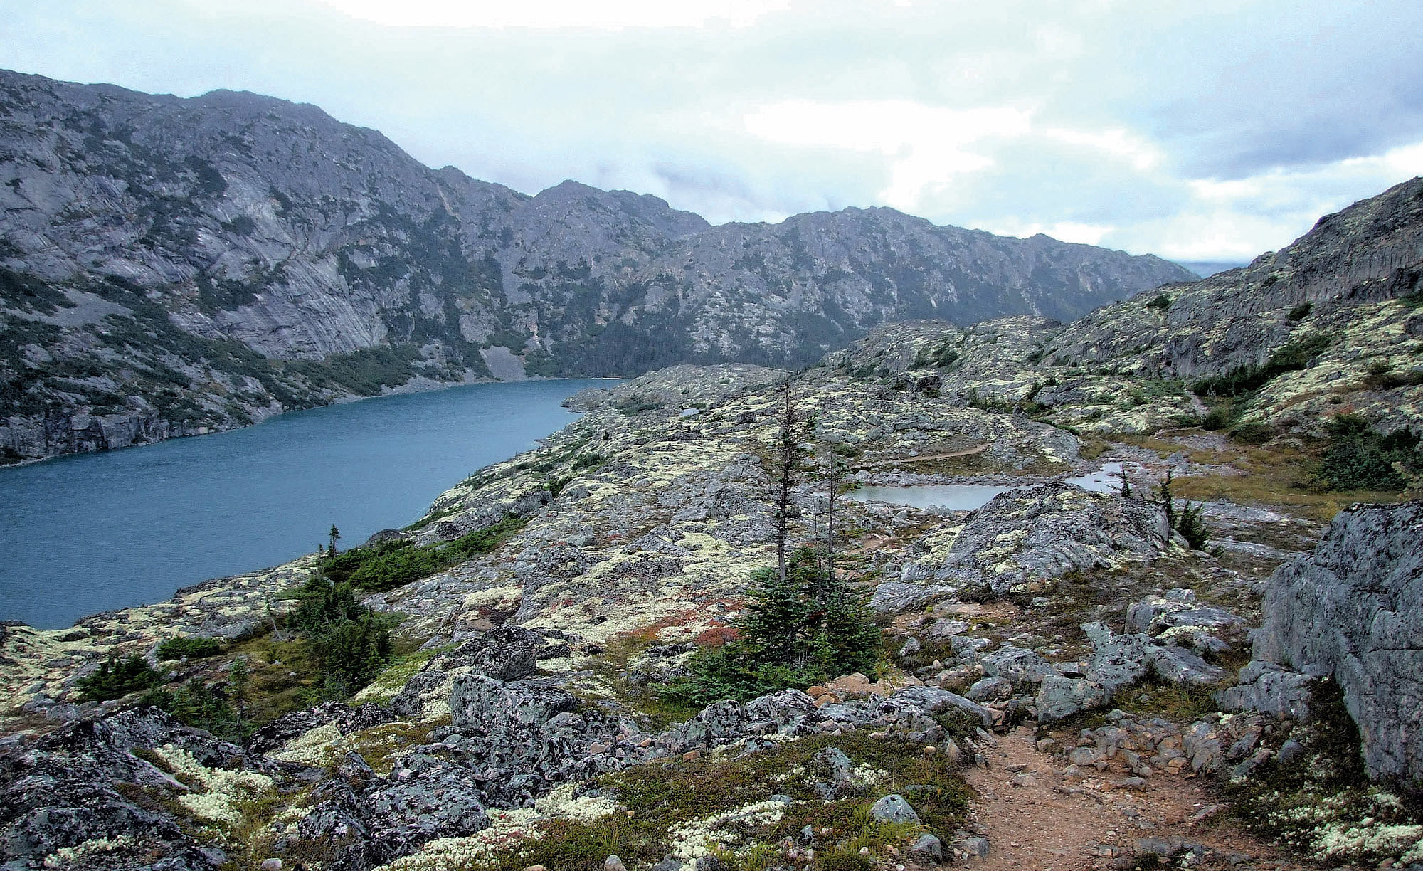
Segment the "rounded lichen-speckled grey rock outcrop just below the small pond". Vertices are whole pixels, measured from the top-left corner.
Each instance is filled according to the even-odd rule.
[[[1148,562],[1168,532],[1148,502],[1063,482],[1012,490],[973,511],[942,554],[906,564],[871,605],[906,611],[952,595],[1035,592],[1072,571]]]

